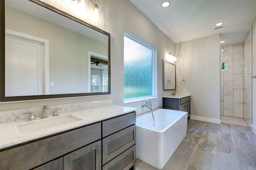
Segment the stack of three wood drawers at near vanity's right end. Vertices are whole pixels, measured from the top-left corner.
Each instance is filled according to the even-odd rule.
[[[136,112],[102,122],[102,170],[135,170]]]

